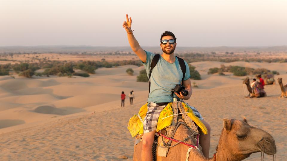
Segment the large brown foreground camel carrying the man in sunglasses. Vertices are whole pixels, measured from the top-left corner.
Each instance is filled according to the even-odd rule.
[[[191,132],[184,125],[180,125],[175,132],[174,139],[183,140],[190,136]],[[262,139],[264,137],[264,140]],[[160,137],[158,139],[161,139]],[[264,149],[263,147],[264,142]],[[190,139],[186,143],[195,145]],[[172,141],[171,145],[175,142]],[[133,160],[141,160],[141,143],[134,147]],[[157,161],[164,160],[185,160],[187,150],[190,147],[183,144],[178,144],[170,148],[167,157],[156,157]],[[256,127],[250,126],[247,121],[235,119],[223,119],[223,129],[219,138],[219,143],[216,148],[215,158],[205,158],[198,150],[192,149],[189,154],[189,160],[196,161],[238,161],[248,158],[252,153],[265,152],[265,154],[273,155],[276,153],[276,145],[273,137]]]

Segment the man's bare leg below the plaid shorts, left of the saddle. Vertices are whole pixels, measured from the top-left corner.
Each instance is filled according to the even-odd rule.
[[[143,135],[143,144],[141,148],[142,161],[152,161],[152,144],[155,137],[155,131],[144,133]]]

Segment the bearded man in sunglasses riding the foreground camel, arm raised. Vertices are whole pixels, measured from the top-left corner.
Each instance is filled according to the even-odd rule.
[[[149,75],[151,61],[155,54],[145,51],[141,48],[138,41],[135,39],[132,30],[132,18],[126,15],[126,21],[123,22],[123,28],[127,32],[127,37],[132,50],[141,59],[144,67]],[[176,48],[176,38],[172,32],[165,31],[161,35],[160,47],[162,54],[158,60],[157,65],[152,69],[152,75],[150,77],[150,93],[148,97],[148,112],[144,119],[144,134],[142,141],[141,159],[143,161],[152,160],[152,144],[156,132],[158,117],[160,112],[167,106],[169,102],[173,101],[173,97],[178,99],[188,100],[192,95],[192,88],[190,83],[189,66],[184,61],[186,66],[185,77],[183,78],[183,72],[179,65],[178,58],[174,56],[174,50]],[[183,80],[183,81],[182,81]],[[180,92],[174,93],[172,96],[172,89],[181,84],[186,87],[188,94],[182,95]],[[201,114],[194,108],[193,113],[201,120],[208,130],[208,135],[201,135],[199,144],[202,147],[202,153],[205,157],[209,158],[209,146],[210,146],[210,125],[203,120]]]

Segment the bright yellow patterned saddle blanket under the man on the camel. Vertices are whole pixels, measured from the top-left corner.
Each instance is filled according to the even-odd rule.
[[[128,129],[132,137],[135,137],[138,134],[144,133],[144,124],[142,121],[144,121],[144,118],[146,117],[147,104],[148,103],[144,104],[144,106],[141,107],[138,114],[135,114],[132,118],[129,119]],[[196,123],[196,125],[199,126],[199,128],[204,134],[207,134],[206,127],[201,122],[201,120],[195,116],[192,109],[184,102],[182,102],[182,106],[184,107],[185,112],[188,112],[187,115],[191,118],[191,120],[193,120]],[[173,115],[173,112],[172,112],[172,102],[171,102],[167,104],[167,106],[161,111],[161,114],[158,118],[158,125],[156,128],[157,132],[171,125],[172,120],[173,120],[172,115]]]

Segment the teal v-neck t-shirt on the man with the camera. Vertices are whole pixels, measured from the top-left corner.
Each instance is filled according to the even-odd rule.
[[[146,74],[149,76],[150,64],[152,58],[155,54],[146,52],[146,63],[144,67],[146,68]],[[184,81],[190,78],[189,67],[186,61],[184,61],[186,66],[186,73],[184,76]],[[162,102],[172,102],[173,97],[171,96],[171,89],[175,87],[176,84],[181,84],[182,71],[175,57],[174,63],[169,63],[162,56],[160,56],[158,63],[152,69],[152,75],[150,76],[150,93],[148,98],[148,103],[162,103]],[[174,95],[174,97],[177,97]]]

